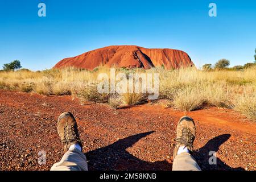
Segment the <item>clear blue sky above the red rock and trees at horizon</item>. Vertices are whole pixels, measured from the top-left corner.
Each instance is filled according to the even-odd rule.
[[[38,16],[46,3],[47,16]],[[208,5],[217,5],[217,17]],[[254,61],[256,1],[1,0],[0,69],[18,59],[34,71],[110,45],[181,49],[197,67]]]

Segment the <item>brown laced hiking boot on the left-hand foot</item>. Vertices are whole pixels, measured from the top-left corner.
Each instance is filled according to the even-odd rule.
[[[73,114],[67,112],[60,114],[57,122],[57,131],[63,143],[64,152],[67,152],[72,144],[79,144],[82,148],[76,119]]]

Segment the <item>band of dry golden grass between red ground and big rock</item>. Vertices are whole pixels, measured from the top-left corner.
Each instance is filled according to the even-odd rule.
[[[167,106],[192,111],[216,106],[234,109],[249,118],[256,118],[256,67],[240,71],[194,67],[166,70],[116,68],[116,72],[159,73],[159,99]],[[98,74],[110,74],[107,67],[93,71],[66,68],[32,72],[27,69],[0,72],[0,88],[49,95],[72,95],[81,102],[106,103],[117,109],[122,105],[142,103],[146,95],[138,93],[101,94],[97,92]]]

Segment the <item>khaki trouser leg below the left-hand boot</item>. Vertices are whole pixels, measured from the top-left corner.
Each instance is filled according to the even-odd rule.
[[[51,171],[88,171],[85,155],[80,150],[67,151]]]

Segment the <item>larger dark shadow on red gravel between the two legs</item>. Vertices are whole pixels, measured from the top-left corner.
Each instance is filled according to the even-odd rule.
[[[151,133],[154,131],[132,135],[109,146],[86,153],[89,170],[171,170],[172,165],[166,161],[150,163],[126,151],[139,139]]]

